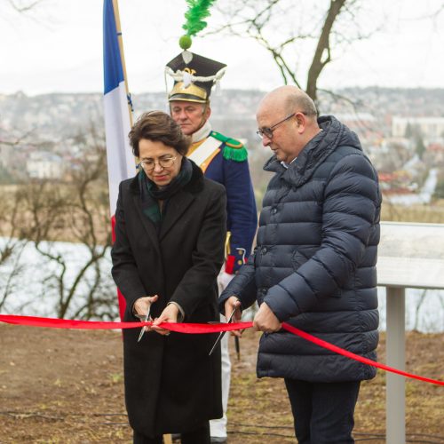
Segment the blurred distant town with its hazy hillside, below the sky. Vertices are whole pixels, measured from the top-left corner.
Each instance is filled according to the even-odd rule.
[[[385,196],[420,193],[436,170],[444,190],[444,89],[349,88],[319,91],[321,115],[335,115],[355,131],[376,165]],[[211,96],[215,131],[248,147],[256,191],[271,155],[256,134],[256,110],[265,92],[223,90]],[[134,120],[153,109],[168,110],[165,92],[132,94]],[[102,95],[0,94],[0,183],[72,181],[105,147]],[[433,173],[435,174],[435,173]],[[435,178],[435,176],[433,176]],[[444,194],[444,191],[443,191]]]

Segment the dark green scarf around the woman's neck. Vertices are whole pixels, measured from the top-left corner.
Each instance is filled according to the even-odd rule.
[[[193,174],[193,167],[191,162],[184,157],[182,159],[182,165],[178,175],[173,178],[167,186],[158,188],[155,183],[147,178],[145,171],[140,168],[139,170],[139,189],[140,189],[140,201],[142,202],[142,212],[157,229],[159,233],[163,214],[166,211],[166,206],[170,197],[179,190],[181,190],[190,181]],[[159,201],[163,201],[163,211],[159,205]]]

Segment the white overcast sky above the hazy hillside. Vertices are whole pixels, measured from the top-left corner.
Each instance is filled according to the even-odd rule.
[[[289,9],[289,24],[306,17],[296,8],[299,2],[289,3],[295,5]],[[6,0],[0,4],[0,93],[103,91],[102,0],[41,0],[28,15],[14,12]],[[444,11],[431,17],[443,2],[365,0],[363,4],[367,9],[357,17],[359,27],[375,32],[335,48],[335,60],[322,73],[319,85],[444,87]],[[163,67],[180,51],[185,0],[120,0],[119,7],[131,92],[164,91]],[[213,12],[209,27],[218,20],[218,12]],[[305,49],[297,56],[301,72],[309,44]],[[223,88],[266,91],[282,83],[268,53],[249,39],[197,37],[192,51],[228,65]]]

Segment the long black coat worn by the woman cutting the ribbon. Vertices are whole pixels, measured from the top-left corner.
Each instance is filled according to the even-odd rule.
[[[138,177],[124,180],[115,212],[115,283],[126,299],[125,321],[136,299],[159,295],[153,318],[168,302],[185,322],[218,321],[217,276],[224,260],[226,192],[193,164],[190,182],[166,203],[160,233],[143,215]],[[222,416],[220,350],[216,335],[123,332],[125,401],[131,427],[146,436],[194,430]]]

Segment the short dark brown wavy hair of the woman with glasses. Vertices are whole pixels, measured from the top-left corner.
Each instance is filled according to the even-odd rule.
[[[191,139],[187,137],[178,123],[170,115],[162,111],[150,111],[140,115],[128,134],[132,154],[139,157],[139,141],[148,139],[153,142],[163,142],[167,147],[176,149],[179,155],[186,155]]]

